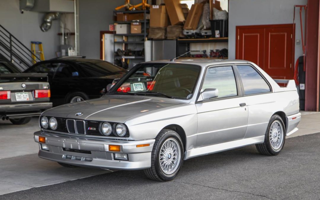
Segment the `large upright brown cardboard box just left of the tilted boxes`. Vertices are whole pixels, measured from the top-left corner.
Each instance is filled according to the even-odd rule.
[[[167,27],[168,13],[165,5],[152,5],[150,7],[150,27]]]

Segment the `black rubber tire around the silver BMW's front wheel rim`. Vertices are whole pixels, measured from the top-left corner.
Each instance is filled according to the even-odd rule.
[[[162,171],[160,167],[160,161],[158,159],[159,157],[159,152],[164,144],[164,142],[169,139],[173,138],[175,139],[180,146],[180,162],[178,164],[177,169],[172,174],[166,174]],[[184,149],[183,149],[183,143],[178,135],[177,132],[168,130],[168,129],[163,129],[156,137],[155,144],[153,145],[152,153],[151,153],[151,167],[149,169],[145,169],[144,173],[149,179],[152,180],[157,180],[157,181],[169,181],[174,179],[177,174],[179,173],[182,163],[183,163],[183,156],[184,156]]]

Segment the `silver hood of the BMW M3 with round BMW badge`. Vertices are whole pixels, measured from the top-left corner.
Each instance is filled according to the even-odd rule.
[[[124,123],[135,116],[186,103],[182,100],[159,97],[104,95],[99,99],[69,103],[49,109],[44,111],[42,116]],[[77,116],[77,113],[83,114]]]

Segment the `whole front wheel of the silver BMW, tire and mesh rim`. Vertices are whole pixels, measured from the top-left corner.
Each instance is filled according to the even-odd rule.
[[[151,153],[151,167],[144,172],[149,179],[174,179],[183,163],[183,145],[177,132],[164,129],[156,137]]]

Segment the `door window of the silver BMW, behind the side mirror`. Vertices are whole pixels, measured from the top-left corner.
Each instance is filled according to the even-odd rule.
[[[237,96],[236,78],[231,66],[212,67],[206,72],[202,91],[218,89],[218,98]]]

